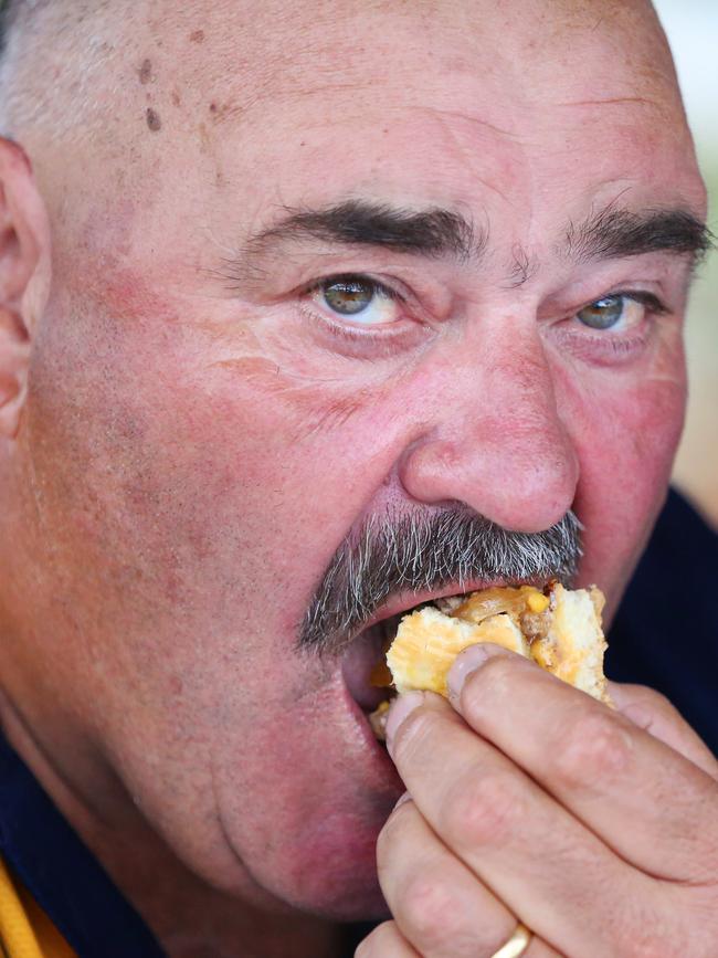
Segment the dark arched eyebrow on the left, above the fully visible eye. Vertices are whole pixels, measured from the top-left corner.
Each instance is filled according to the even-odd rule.
[[[252,236],[245,251],[252,255],[277,241],[304,239],[458,260],[481,255],[487,241],[485,234],[476,234],[469,220],[451,210],[432,207],[415,211],[347,200],[324,210],[285,208],[284,218]]]

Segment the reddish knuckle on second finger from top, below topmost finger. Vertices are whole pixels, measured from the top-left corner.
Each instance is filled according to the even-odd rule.
[[[516,834],[525,806],[514,776],[503,770],[475,769],[450,792],[442,833],[452,848],[500,846]]]

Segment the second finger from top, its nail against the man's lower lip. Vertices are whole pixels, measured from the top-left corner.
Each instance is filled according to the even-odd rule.
[[[647,895],[652,878],[622,861],[440,696],[400,696],[389,714],[387,744],[444,845],[560,954],[617,955],[636,902],[647,903],[644,916],[651,913],[652,922],[654,908],[668,908],[662,888]]]

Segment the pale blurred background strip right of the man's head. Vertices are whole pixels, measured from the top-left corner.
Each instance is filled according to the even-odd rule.
[[[654,0],[678,69],[718,234],[718,0]],[[690,398],[674,483],[718,529],[718,251],[700,267],[688,325]]]

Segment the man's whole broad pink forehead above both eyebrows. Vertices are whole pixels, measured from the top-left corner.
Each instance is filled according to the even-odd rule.
[[[646,3],[167,6],[136,20],[124,65],[155,207],[182,196],[194,217],[232,196],[257,225],[273,206],[357,192],[525,222],[540,203],[579,215],[625,191],[700,204]]]

